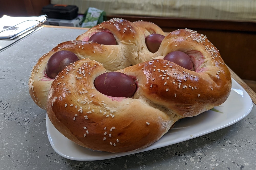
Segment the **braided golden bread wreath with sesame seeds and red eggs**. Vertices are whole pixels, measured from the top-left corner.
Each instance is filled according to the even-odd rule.
[[[109,33],[114,44],[109,37],[112,45],[93,42],[104,38],[90,39],[99,32]],[[147,42],[151,34],[164,38]],[[148,44],[157,50],[151,52]],[[189,56],[192,66],[185,64],[186,69],[167,60],[173,51]],[[60,72],[47,70],[51,58],[61,52],[72,52],[77,59],[68,60]],[[206,36],[189,29],[165,36],[153,23],[117,18],[53,48],[38,60],[29,78],[31,97],[64,136],[108,152],[151,145],[177,120],[222,104],[230,90],[230,72]]]

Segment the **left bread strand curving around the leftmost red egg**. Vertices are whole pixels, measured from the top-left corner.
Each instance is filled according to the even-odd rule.
[[[68,50],[77,55],[79,59],[91,58],[104,64],[108,71],[115,71],[130,66],[131,63],[126,58],[122,58],[122,51],[118,46],[112,48],[92,42],[67,41],[58,44],[49,53],[42,56],[33,68],[29,78],[29,93],[34,98],[35,103],[46,110],[48,90],[53,79],[46,74],[46,64],[49,58],[57,51]]]

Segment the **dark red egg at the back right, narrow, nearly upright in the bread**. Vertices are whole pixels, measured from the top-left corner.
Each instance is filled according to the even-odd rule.
[[[145,38],[147,49],[151,53],[155,53],[159,49],[160,44],[162,43],[164,37],[165,36],[161,35],[161,34],[151,34],[151,35],[148,35]]]

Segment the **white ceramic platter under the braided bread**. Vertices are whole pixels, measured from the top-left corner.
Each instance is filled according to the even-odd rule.
[[[232,79],[231,93],[223,104],[195,117],[181,119],[175,124],[174,128],[149,147],[124,153],[92,151],[73,143],[52,125],[47,114],[46,126],[51,146],[59,155],[71,160],[93,161],[144,152],[193,139],[230,126],[247,116],[251,110],[252,100],[250,96]]]

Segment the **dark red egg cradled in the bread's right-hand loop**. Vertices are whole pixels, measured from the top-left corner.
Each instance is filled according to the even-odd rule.
[[[168,60],[170,62],[174,62],[178,64],[181,67],[184,67],[185,69],[194,71],[193,62],[190,59],[190,57],[181,51],[173,51],[171,53],[168,53],[164,60]]]

